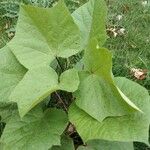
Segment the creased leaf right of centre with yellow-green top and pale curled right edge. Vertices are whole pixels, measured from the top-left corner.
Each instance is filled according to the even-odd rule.
[[[92,40],[85,50],[85,71],[80,72],[80,85],[75,93],[77,106],[100,122],[109,116],[141,111],[118,90],[112,77],[112,55],[105,48],[97,48],[97,44]]]

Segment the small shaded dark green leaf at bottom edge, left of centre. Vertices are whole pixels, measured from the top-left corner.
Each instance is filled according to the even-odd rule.
[[[61,146],[53,146],[51,150],[74,150],[74,144],[72,139],[63,135],[61,138]]]

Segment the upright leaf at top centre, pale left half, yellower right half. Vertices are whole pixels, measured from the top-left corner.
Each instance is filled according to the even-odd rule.
[[[104,0],[90,0],[72,14],[81,31],[83,48],[91,38],[96,38],[100,45],[107,39],[107,7]]]

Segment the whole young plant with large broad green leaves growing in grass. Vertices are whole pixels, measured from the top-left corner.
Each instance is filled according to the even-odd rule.
[[[53,8],[21,5],[15,37],[0,50],[1,149],[74,150],[73,133],[85,145],[79,150],[148,143],[150,96],[113,76],[112,54],[102,47],[106,16],[103,0],[72,14],[63,0]],[[82,67],[70,68],[82,51]]]

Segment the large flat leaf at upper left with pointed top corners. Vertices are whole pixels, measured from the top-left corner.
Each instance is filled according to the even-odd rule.
[[[21,6],[16,35],[9,47],[26,68],[49,65],[80,49],[80,31],[64,2],[53,8]]]

